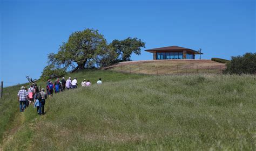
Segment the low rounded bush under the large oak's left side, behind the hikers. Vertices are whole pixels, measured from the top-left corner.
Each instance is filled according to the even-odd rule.
[[[50,78],[62,77],[66,74],[65,69],[55,68],[53,65],[44,67],[40,80],[48,80]]]

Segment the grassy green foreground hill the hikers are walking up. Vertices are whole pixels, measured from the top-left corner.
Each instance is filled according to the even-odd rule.
[[[46,100],[44,116],[31,106],[16,112],[3,150],[255,150],[255,76],[68,76],[93,85]],[[17,100],[8,101],[1,106],[18,111]]]

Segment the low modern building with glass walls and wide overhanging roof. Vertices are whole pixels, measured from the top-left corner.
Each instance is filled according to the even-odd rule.
[[[203,54],[193,49],[170,46],[162,48],[154,48],[145,50],[146,52],[153,53],[153,60],[163,59],[195,59],[196,54]]]

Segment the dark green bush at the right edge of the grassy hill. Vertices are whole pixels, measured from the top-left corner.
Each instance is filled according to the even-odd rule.
[[[246,53],[243,56],[232,56],[227,63],[225,74],[256,74],[256,53]]]

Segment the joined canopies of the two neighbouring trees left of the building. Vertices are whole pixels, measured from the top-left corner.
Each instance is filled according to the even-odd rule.
[[[145,47],[145,42],[130,37],[125,40],[113,40],[108,45],[103,34],[87,28],[73,32],[68,41],[59,46],[56,54],[50,53],[45,69],[74,72],[86,66],[106,67],[120,61],[131,61],[132,53],[140,55],[141,47]],[[47,74],[45,76],[47,77]]]

